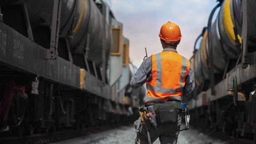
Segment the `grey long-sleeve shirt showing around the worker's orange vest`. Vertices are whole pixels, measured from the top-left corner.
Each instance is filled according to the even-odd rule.
[[[165,48],[163,51],[174,51],[177,52],[175,49]],[[142,86],[146,83],[147,77],[148,81],[151,81],[151,70],[152,70],[152,57],[147,58],[141,63],[141,66],[132,77],[130,85],[133,89],[137,89],[138,87]],[[185,78],[185,86],[183,88],[183,97],[189,98],[193,95],[195,89],[195,80],[194,80],[194,73],[193,68],[190,63],[188,74]],[[181,97],[173,97],[173,100],[181,100]]]

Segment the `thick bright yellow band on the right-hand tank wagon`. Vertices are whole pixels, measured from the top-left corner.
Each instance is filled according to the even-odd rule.
[[[235,45],[235,33],[233,29],[234,25],[230,13],[230,0],[226,0],[223,7],[223,22],[228,38],[233,43],[233,45]],[[241,43],[241,37],[239,35],[237,35],[237,37],[239,39],[239,42]]]

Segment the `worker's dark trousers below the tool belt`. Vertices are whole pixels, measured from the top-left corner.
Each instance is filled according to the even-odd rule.
[[[167,104],[167,102],[166,102]],[[173,113],[174,114],[174,113]],[[177,143],[178,135],[180,133],[180,124],[181,124],[181,112],[177,110],[177,121],[169,124],[161,124],[157,122],[157,129],[150,124],[150,140],[153,143],[157,138],[159,138],[161,144]],[[134,124],[137,122],[134,122]],[[146,123],[142,123],[138,136],[140,144],[148,144],[148,134],[146,130]]]

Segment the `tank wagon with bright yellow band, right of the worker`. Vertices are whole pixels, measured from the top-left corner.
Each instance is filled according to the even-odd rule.
[[[256,142],[255,6],[254,0],[225,0],[214,7],[190,59],[196,90],[187,103],[195,124]]]

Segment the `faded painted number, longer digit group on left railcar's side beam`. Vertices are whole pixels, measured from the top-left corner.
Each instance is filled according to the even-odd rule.
[[[23,60],[24,57],[24,47],[23,43],[17,39],[13,39],[13,58]]]

